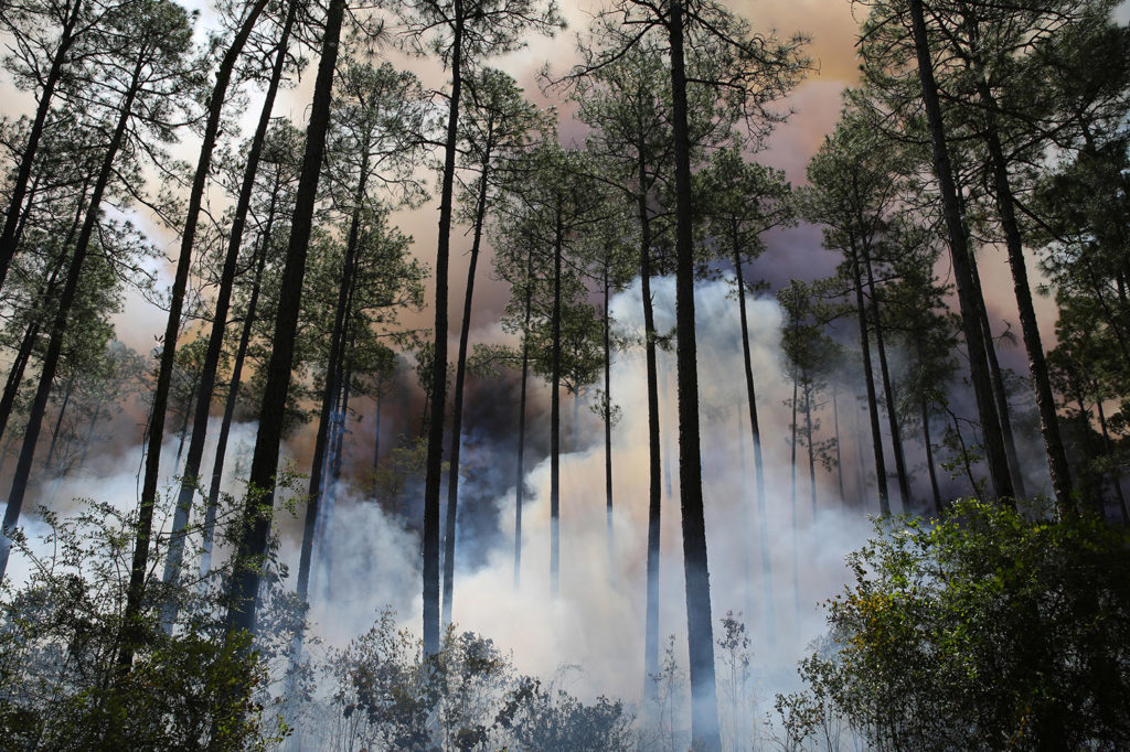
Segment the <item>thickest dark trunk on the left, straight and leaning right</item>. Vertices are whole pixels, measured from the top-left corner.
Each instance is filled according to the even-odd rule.
[[[345,5],[345,0],[331,0],[325,16],[322,56],[318,65],[314,99],[306,128],[306,149],[292,216],[290,242],[279,286],[278,313],[272,338],[275,348],[267,367],[267,384],[259,411],[259,434],[255,437],[255,451],[251,460],[243,530],[235,552],[236,570],[229,584],[232,605],[228,610],[227,629],[233,632],[255,631],[255,598],[259,593],[261,559],[267,551],[267,535],[271,524],[275,473],[278,469],[282,418],[290,387],[294,339],[302,303],[302,282],[306,271],[306,250],[313,229],[314,202],[318,199],[318,181],[325,150],[333,69],[338,58]]]

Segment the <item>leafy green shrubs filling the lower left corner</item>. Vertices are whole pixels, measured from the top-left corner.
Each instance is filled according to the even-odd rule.
[[[123,672],[131,518],[96,502],[43,517],[49,532],[35,548],[20,540],[33,571],[0,601],[0,749],[263,750],[285,733],[261,728],[261,653],[245,633],[225,639],[208,598],[189,598],[174,637],[144,613],[144,646]]]

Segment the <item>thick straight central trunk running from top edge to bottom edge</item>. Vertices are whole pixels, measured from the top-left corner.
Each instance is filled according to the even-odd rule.
[[[703,516],[702,455],[698,446],[698,373],[695,346],[695,259],[690,206],[690,139],[687,79],[683,58],[683,1],[669,7],[671,102],[675,137],[676,327],[679,364],[679,504],[686,569],[687,642],[690,673],[692,744],[702,752],[722,749],[714,682],[714,622]]]

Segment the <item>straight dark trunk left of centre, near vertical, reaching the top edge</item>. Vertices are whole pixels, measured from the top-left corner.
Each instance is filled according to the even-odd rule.
[[[440,239],[435,256],[435,351],[424,483],[424,655],[440,650],[440,481],[443,473],[443,418],[447,399],[447,264],[451,255],[451,212],[459,139],[459,95],[463,65],[463,3],[453,0],[454,38],[451,45],[451,96],[443,181],[440,189]]]

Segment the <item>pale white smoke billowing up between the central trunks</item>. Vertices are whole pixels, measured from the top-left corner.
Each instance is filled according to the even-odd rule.
[[[673,280],[655,280],[652,289],[657,326],[670,330],[675,324]],[[744,613],[762,694],[767,699],[771,690],[791,682],[797,659],[824,631],[818,603],[842,588],[846,577],[844,556],[867,539],[871,527],[861,511],[842,509],[835,476],[824,470],[817,472],[818,514],[814,519],[806,464],[797,474],[798,530],[793,536],[790,414],[784,405],[791,395],[791,382],[784,375],[779,348],[782,315],[775,301],[749,301],[775,614],[775,623],[766,623],[770,609],[764,598],[767,589],[745,420],[740,325],[737,301],[729,292],[725,282],[712,282],[699,286],[696,295],[711,592],[715,623],[728,611]],[[616,296],[611,309],[619,335],[642,332],[638,282]],[[660,425],[664,479],[671,479],[671,488],[664,488],[663,495],[660,630],[677,636],[684,646],[677,648],[677,655],[685,659],[673,360],[673,352],[661,353]],[[556,598],[549,595],[548,458],[537,464],[528,462],[525,482],[533,492],[527,496],[522,514],[522,574],[515,589],[514,475],[510,469],[516,425],[502,437],[471,431],[464,438],[468,480],[461,484],[460,498],[467,507],[459,523],[453,619],[459,629],[488,636],[512,649],[520,671],[549,676],[563,663],[576,664],[584,676],[571,691],[582,698],[612,694],[638,701],[643,689],[647,528],[647,413],[642,351],[616,355],[611,378],[612,400],[623,411],[612,439],[615,561],[610,562],[607,553],[603,435],[599,420],[588,409],[582,406],[580,411],[579,449],[562,456],[562,575]],[[469,400],[468,404],[475,402]],[[508,408],[499,410],[510,414]],[[565,447],[572,446],[571,412],[563,410]],[[827,419],[831,421],[831,416]],[[502,421],[484,422],[496,430],[506,429]],[[531,423],[528,431],[537,437],[546,428],[545,423]],[[494,456],[483,451],[484,445]],[[493,496],[487,496],[492,490]],[[380,507],[346,489],[336,509],[328,563],[333,586],[327,588],[324,578],[315,574],[322,586],[312,596],[312,618],[316,622],[312,631],[329,645],[340,645],[364,631],[376,612],[391,604],[402,626],[418,633],[418,540],[405,533],[401,523],[385,516]],[[493,525],[486,525],[485,519]],[[284,541],[282,556],[294,559],[294,566],[297,542]],[[772,641],[771,630],[775,635]],[[767,709],[762,707],[763,712]]]

